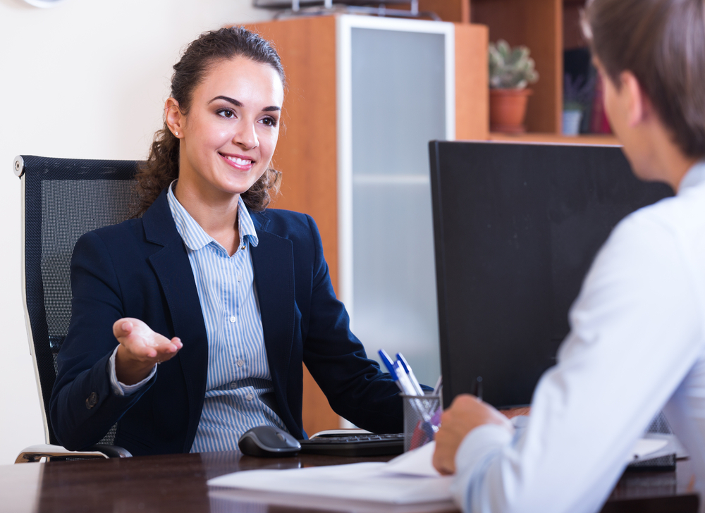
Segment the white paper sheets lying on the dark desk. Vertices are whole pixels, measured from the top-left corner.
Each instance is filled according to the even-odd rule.
[[[345,500],[413,505],[450,503],[452,477],[431,464],[435,444],[407,452],[388,463],[353,463],[290,470],[251,470],[208,481],[209,486],[259,492],[315,495]]]

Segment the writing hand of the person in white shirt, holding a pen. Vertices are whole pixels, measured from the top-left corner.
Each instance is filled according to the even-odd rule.
[[[436,433],[434,466],[441,474],[455,474],[455,453],[462,439],[477,426],[498,424],[513,430],[509,419],[474,395],[458,395],[441,416]]]

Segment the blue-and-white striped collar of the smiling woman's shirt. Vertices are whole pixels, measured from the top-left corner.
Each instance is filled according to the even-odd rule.
[[[206,231],[201,228],[201,225],[191,217],[191,214],[183,208],[183,205],[178,202],[178,199],[176,199],[173,193],[174,183],[176,183],[176,180],[169,185],[166,198],[169,202],[169,209],[171,209],[171,216],[176,224],[176,231],[181,235],[184,244],[192,251],[198,251],[211,242],[219,245],[219,243],[208,235]],[[240,196],[238,200],[238,230],[240,232],[240,245],[243,245],[245,241],[249,242],[253,247],[259,244],[255,225],[252,223],[250,212],[247,211],[247,206],[245,206],[242,196]]]

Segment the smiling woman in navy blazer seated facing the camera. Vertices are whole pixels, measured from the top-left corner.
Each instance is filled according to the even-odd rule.
[[[302,361],[338,414],[402,431],[398,389],[350,333],[314,221],[265,210],[280,176],[276,51],[223,28],[174,70],[137,173],[142,217],[75,245],[56,437],[79,450],[117,423],[133,455],[235,450],[262,424],[304,438]]]

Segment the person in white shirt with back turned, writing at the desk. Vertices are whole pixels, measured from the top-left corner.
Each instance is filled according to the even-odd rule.
[[[599,511],[661,409],[705,486],[704,1],[594,0],[584,26],[634,173],[677,195],[613,230],[521,432],[471,395],[443,413],[434,465],[465,512]]]

